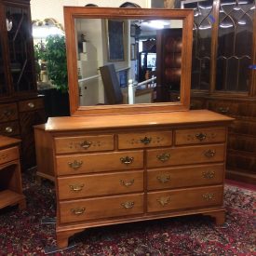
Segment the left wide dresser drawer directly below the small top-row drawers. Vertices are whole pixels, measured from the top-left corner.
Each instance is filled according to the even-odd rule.
[[[56,157],[58,175],[142,167],[143,152],[139,150],[101,154],[58,155]]]

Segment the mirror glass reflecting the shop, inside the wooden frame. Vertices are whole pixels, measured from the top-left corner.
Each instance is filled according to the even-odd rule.
[[[79,104],[180,101],[182,22],[74,19]]]

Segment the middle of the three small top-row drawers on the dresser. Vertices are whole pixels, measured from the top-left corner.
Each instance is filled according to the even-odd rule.
[[[118,135],[118,148],[144,148],[171,146],[172,131],[124,133]]]

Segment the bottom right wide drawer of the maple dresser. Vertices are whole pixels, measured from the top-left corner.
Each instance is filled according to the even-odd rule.
[[[222,199],[222,185],[151,192],[147,196],[147,211],[155,212],[221,206]]]

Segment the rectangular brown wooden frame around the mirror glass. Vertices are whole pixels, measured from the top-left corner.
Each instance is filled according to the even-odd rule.
[[[90,18],[182,20],[182,74],[180,95],[181,101],[80,106],[76,59],[76,33],[74,20]],[[192,9],[64,7],[70,114],[72,116],[118,115],[189,110],[193,45],[193,20],[194,12]]]

